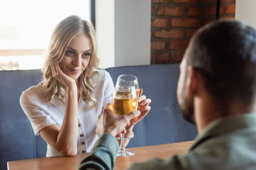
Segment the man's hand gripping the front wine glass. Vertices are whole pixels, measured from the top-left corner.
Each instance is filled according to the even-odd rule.
[[[137,116],[140,116],[140,111],[138,110],[125,116],[117,116],[113,112],[112,105],[108,104],[98,118],[96,133],[99,136],[103,133],[110,133],[112,136],[116,136],[124,131],[125,127],[130,124],[131,119],[134,119]]]

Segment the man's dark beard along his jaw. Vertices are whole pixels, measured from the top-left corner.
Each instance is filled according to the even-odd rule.
[[[180,105],[180,110],[183,119],[195,125],[194,107],[185,96],[183,106]]]

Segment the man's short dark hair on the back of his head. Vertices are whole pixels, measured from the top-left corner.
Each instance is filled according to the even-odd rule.
[[[256,31],[239,21],[218,21],[192,37],[187,65],[199,71],[218,104],[252,105],[256,96]]]

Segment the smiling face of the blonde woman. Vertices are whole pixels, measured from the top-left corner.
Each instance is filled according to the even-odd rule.
[[[64,74],[78,79],[90,61],[92,43],[88,36],[76,35],[67,45],[64,57],[59,63]]]

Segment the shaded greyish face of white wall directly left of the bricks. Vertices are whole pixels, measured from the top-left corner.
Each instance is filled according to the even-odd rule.
[[[115,66],[150,64],[151,0],[115,1]]]

